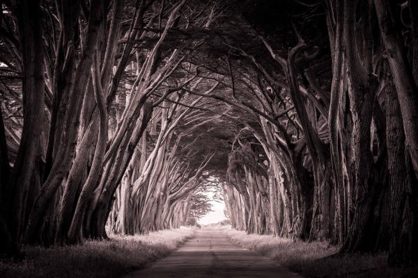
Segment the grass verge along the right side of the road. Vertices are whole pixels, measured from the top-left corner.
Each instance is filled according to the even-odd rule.
[[[246,234],[224,229],[226,236],[249,250],[269,256],[284,267],[312,278],[412,278],[418,269],[389,268],[387,254],[350,254],[336,256],[338,247],[326,242]]]

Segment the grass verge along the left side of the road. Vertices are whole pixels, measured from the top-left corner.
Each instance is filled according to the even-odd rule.
[[[0,277],[120,277],[167,256],[193,234],[194,229],[182,228],[141,236],[111,236],[111,240],[91,240],[84,245],[25,247],[22,261],[0,260]]]

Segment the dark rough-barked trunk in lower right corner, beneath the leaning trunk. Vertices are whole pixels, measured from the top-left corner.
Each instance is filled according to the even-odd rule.
[[[387,153],[390,188],[390,215],[392,238],[389,244],[389,265],[414,265],[418,263],[418,223],[412,190],[412,174],[405,134],[401,117],[401,107],[395,88],[389,81],[386,90]]]

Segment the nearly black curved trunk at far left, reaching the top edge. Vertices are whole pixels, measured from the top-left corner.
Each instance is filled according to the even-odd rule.
[[[19,5],[22,44],[22,94],[24,126],[13,175],[8,190],[8,211],[13,247],[20,249],[26,215],[26,199],[35,168],[44,115],[45,67],[40,2],[22,1]]]

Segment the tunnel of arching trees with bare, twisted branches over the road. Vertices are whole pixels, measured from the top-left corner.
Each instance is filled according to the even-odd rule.
[[[196,222],[418,263],[418,2],[1,0],[0,247]]]

